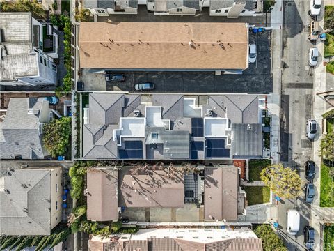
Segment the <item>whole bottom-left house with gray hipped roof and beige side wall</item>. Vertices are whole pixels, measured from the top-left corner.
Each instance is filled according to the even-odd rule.
[[[0,232],[49,235],[62,220],[62,168],[4,169],[0,173]]]

